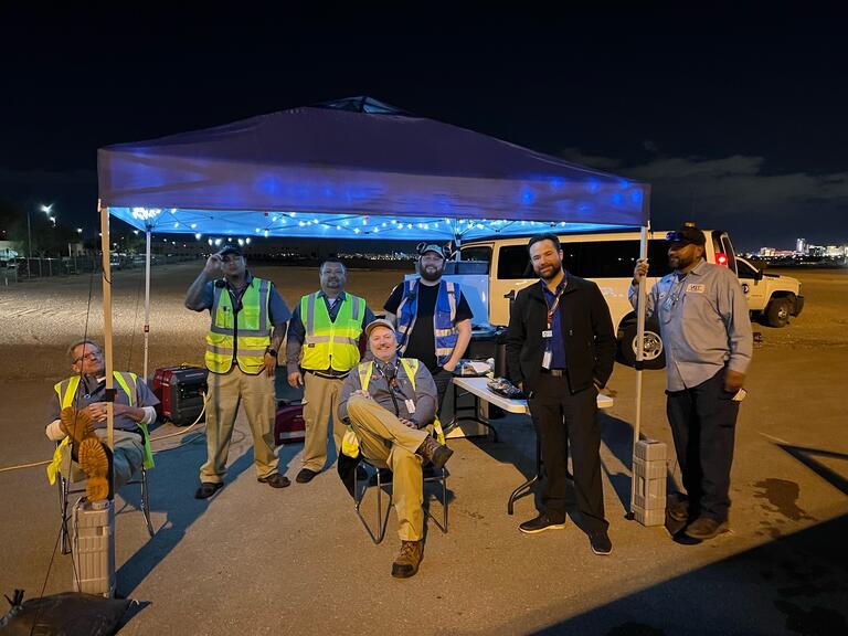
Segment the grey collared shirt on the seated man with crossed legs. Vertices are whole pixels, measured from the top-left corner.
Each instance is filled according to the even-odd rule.
[[[371,371],[371,380],[368,382],[368,392],[374,402],[401,420],[412,420],[418,424],[418,427],[430,424],[436,416],[437,394],[436,383],[427,371],[427,368],[418,362],[418,370],[415,373],[415,389],[406,378],[400,358],[395,358],[392,364],[395,368],[395,382],[390,384],[385,372],[385,363],[374,360],[374,368]],[[339,394],[339,417],[343,422],[348,420],[348,399],[354,391],[362,389],[357,368],[351,369]],[[394,393],[394,400],[392,400]],[[406,400],[411,400],[415,405],[415,412],[410,413]],[[396,411],[395,411],[396,407]]]

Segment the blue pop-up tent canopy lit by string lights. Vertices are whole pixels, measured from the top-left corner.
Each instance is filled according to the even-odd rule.
[[[639,226],[649,187],[358,97],[98,151],[139,230],[467,241]]]

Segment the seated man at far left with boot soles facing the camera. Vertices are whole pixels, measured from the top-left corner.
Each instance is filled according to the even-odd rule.
[[[47,477],[53,484],[61,471],[73,480],[74,464],[78,464],[87,478],[88,499],[108,499],[112,498],[110,471],[115,487],[120,488],[142,464],[146,468],[152,467],[147,426],[156,421],[155,406],[159,400],[135,373],[114,372],[115,449],[109,452],[103,351],[96,342],[80,340],[71,344],[67,352],[74,374],[54,386],[45,433],[60,444],[47,467]]]

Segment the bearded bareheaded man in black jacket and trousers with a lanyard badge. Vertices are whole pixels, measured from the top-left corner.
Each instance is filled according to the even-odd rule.
[[[555,235],[533,236],[528,250],[540,280],[519,292],[512,305],[507,374],[527,392],[530,412],[539,424],[548,485],[540,515],[519,529],[534,534],[565,527],[571,445],[584,528],[595,554],[608,554],[613,545],[604,518],[596,400],[613,372],[613,321],[597,285],[562,268]]]

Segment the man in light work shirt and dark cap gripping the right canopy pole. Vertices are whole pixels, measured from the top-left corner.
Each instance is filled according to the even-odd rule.
[[[728,530],[733,437],[753,337],[736,275],[703,259],[703,232],[686,224],[666,239],[675,271],[650,289],[646,314],[659,318],[666,414],[688,495],[670,515],[700,542]],[[634,308],[647,274],[648,263],[639,261],[628,294]]]

